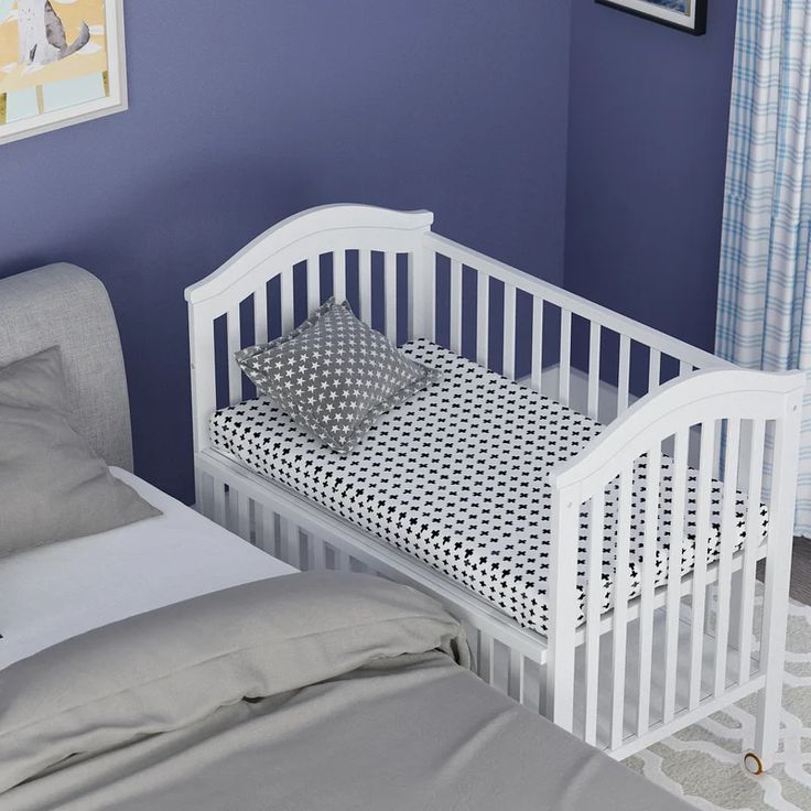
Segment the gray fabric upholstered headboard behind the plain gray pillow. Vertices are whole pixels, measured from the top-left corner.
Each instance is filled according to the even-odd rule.
[[[58,345],[74,428],[107,462],[132,469],[127,378],[104,284],[73,264],[0,279],[0,366]]]

